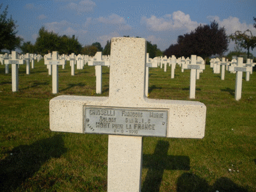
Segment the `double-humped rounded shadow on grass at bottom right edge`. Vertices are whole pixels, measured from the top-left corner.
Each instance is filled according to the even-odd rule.
[[[227,191],[227,192],[248,192],[247,189],[238,186],[232,180],[221,177],[210,186],[205,179],[198,177],[193,173],[183,173],[177,181],[177,192],[192,191]]]

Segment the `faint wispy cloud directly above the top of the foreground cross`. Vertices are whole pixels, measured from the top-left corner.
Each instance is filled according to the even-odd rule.
[[[124,17],[120,17],[114,13],[108,17],[99,17],[97,21],[103,24],[118,26],[117,30],[120,31],[127,31],[132,29],[132,27],[126,23]]]

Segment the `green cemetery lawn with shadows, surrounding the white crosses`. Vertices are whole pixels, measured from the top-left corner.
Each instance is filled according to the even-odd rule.
[[[197,100],[207,107],[202,140],[143,138],[141,191],[256,191],[256,72],[234,99],[236,74],[213,74],[205,66],[189,99],[190,70],[171,79],[150,68],[148,98]],[[97,96],[95,68],[71,76],[59,68],[56,95]],[[108,96],[109,68],[102,67],[102,94]],[[131,93],[132,94],[132,93]],[[19,67],[19,92],[0,65],[0,191],[107,191],[108,136],[52,132],[52,80],[44,60],[26,75]],[[129,182],[129,181],[128,181]]]

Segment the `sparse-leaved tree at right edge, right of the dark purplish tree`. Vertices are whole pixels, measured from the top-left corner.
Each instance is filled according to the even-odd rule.
[[[236,45],[247,50],[247,58],[249,58],[250,55],[250,48],[253,50],[253,48],[256,47],[256,36],[253,36],[252,31],[249,29],[244,31],[244,33],[236,31],[234,34],[231,34],[229,38],[234,41]]]

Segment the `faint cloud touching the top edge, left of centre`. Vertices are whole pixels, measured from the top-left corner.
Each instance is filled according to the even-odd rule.
[[[96,4],[91,1],[91,0],[85,0],[85,1],[80,1],[78,4],[77,3],[69,3],[66,6],[66,9],[72,10],[77,12],[77,14],[81,13],[89,13],[93,12]]]

